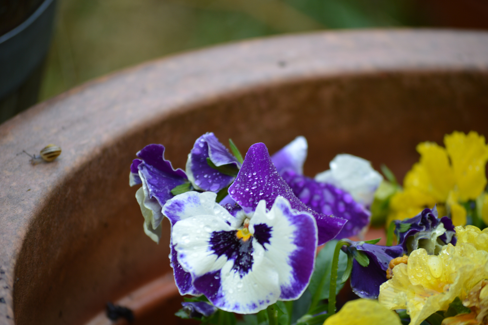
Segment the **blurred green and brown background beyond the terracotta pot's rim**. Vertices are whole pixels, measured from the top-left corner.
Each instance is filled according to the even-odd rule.
[[[461,3],[470,12],[467,20],[457,7]],[[39,100],[146,60],[252,37],[330,28],[483,28],[488,24],[487,4],[487,0],[59,0]]]

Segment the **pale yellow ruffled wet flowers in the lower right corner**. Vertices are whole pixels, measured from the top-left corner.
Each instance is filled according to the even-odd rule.
[[[456,227],[456,246],[445,245],[438,256],[421,248],[408,264],[393,268],[393,278],[380,286],[379,302],[388,309],[407,309],[410,325],[447,310],[456,297],[463,301],[480,281],[488,279],[488,229]]]

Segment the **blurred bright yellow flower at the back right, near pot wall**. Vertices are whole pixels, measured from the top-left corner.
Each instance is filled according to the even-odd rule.
[[[485,137],[474,131],[447,134],[444,144],[446,148],[434,142],[417,146],[420,161],[405,176],[404,191],[391,198],[387,224],[413,217],[436,203],[440,203],[438,209],[446,204],[454,225],[466,224],[466,210],[459,203],[475,200],[483,193],[488,146]],[[483,217],[488,221],[488,196],[484,199]]]

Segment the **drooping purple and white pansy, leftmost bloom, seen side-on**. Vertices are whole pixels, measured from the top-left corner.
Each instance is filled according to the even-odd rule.
[[[151,239],[159,242],[161,238],[161,208],[173,197],[171,190],[187,182],[186,174],[181,169],[173,169],[164,159],[164,147],[151,144],[137,152],[139,159],[134,159],[130,166],[129,185],[142,184],[136,192],[136,199],[144,216],[144,232]]]

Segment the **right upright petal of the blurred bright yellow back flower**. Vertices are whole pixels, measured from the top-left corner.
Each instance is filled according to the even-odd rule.
[[[488,146],[485,137],[474,131],[468,135],[455,131],[444,137],[444,144],[451,158],[461,201],[476,199],[487,185]]]

